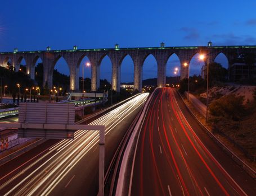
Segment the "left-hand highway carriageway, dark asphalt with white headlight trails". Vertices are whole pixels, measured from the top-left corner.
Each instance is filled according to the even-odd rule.
[[[106,127],[105,171],[148,95],[138,95],[90,123]],[[98,132],[78,130],[73,140],[49,140],[0,171],[0,195],[97,195]]]

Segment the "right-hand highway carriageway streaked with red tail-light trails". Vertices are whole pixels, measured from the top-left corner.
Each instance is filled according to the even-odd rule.
[[[255,195],[255,181],[207,136],[175,89],[152,96],[129,195]]]

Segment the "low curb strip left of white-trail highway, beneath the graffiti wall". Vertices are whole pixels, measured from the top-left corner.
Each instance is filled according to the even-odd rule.
[[[20,150],[17,150],[16,152],[11,153],[10,155],[7,155],[3,158],[0,159],[0,166],[3,164],[6,164],[7,162],[13,160],[14,158],[22,155],[25,152],[28,152],[29,150],[31,150],[34,147],[39,146],[40,144],[42,144],[43,142],[46,142],[47,139],[39,139],[38,141],[35,141],[31,144],[29,144],[28,146],[25,146],[23,148],[21,148]]]

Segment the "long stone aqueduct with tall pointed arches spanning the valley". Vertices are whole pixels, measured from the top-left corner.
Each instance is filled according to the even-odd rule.
[[[26,61],[26,72],[30,78],[35,77],[35,63],[39,58],[43,62],[43,83],[48,87],[52,87],[53,69],[57,60],[63,57],[68,63],[70,71],[70,90],[79,89],[79,66],[84,57],[88,57],[91,62],[91,90],[96,91],[100,86],[100,64],[101,60],[107,55],[112,63],[112,89],[120,91],[120,67],[125,56],[129,55],[134,64],[134,90],[142,91],[142,69],[143,62],[148,55],[152,54],[158,64],[158,86],[165,86],[166,64],[169,57],[176,54],[180,61],[181,79],[188,76],[188,66],[184,63],[190,63],[192,57],[197,53],[204,53],[209,58],[209,63],[214,62],[214,59],[219,53],[223,53],[228,60],[228,66],[232,61],[241,54],[254,53],[256,54],[256,45],[245,46],[213,46],[211,42],[208,46],[179,46],[165,47],[164,43],[160,47],[149,48],[119,48],[116,44],[115,48],[107,49],[77,49],[74,46],[71,50],[47,50],[25,51],[18,52],[17,48],[14,52],[0,53],[0,66],[7,67],[7,62],[11,59],[11,65],[19,70],[21,60]]]

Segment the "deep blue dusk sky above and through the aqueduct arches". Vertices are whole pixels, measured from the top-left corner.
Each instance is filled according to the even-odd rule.
[[[120,48],[159,46],[256,45],[256,1],[2,1],[0,51]],[[86,62],[84,59],[83,62]],[[218,62],[227,67],[219,55]],[[23,61],[24,63],[24,61]],[[202,63],[190,64],[191,75]],[[167,76],[173,76],[179,60],[172,55]],[[82,67],[82,66],[80,66]],[[58,71],[69,74],[65,60]],[[156,62],[149,56],[143,64],[143,79],[156,77]],[[82,74],[82,73],[81,73]],[[133,81],[132,59],[122,63],[121,82]],[[91,77],[86,68],[86,77]],[[101,64],[101,79],[111,78],[111,63]]]

